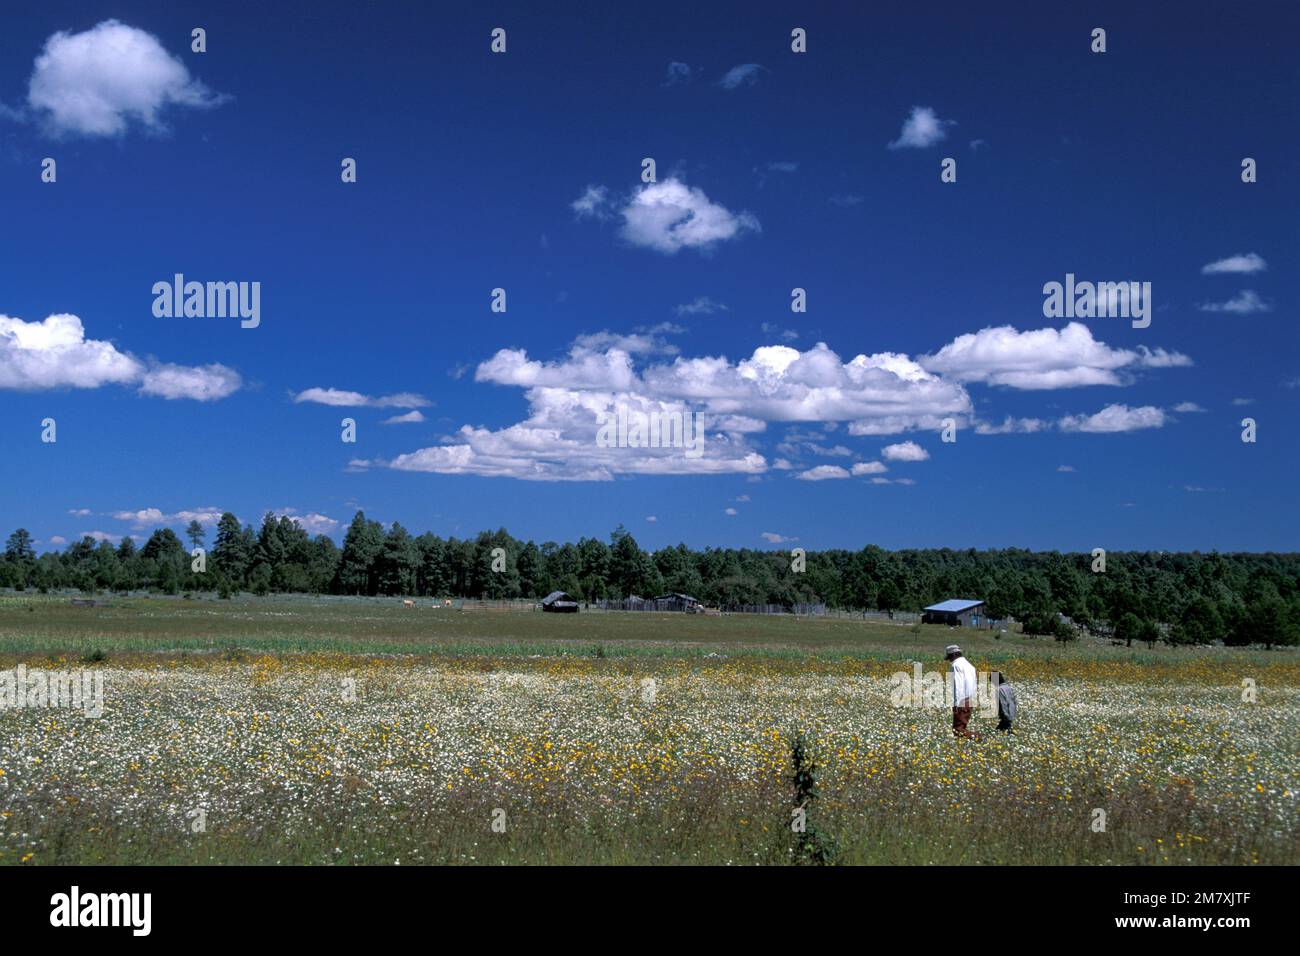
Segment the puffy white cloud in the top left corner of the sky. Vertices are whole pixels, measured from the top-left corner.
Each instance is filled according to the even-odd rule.
[[[53,135],[120,137],[133,121],[157,133],[169,107],[226,99],[191,77],[156,36],[116,20],[53,34],[27,87],[27,104]]]

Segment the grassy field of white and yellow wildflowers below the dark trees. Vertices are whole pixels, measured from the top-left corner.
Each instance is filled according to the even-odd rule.
[[[939,627],[4,597],[0,670],[105,698],[0,710],[0,860],[796,862],[800,735],[833,862],[1300,858],[1295,652],[956,637],[1013,736],[892,704]]]

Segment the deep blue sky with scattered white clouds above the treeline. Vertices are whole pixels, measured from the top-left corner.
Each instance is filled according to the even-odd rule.
[[[1294,5],[529,7],[6,12],[0,528],[1294,550]]]

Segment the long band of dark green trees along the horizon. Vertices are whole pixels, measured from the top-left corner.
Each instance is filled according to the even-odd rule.
[[[0,588],[247,591],[425,597],[537,598],[567,591],[578,600],[693,594],[710,605],[824,602],[849,610],[909,610],[950,597],[980,598],[988,614],[1031,633],[1070,639],[1062,620],[1128,644],[1300,643],[1300,554],[1001,550],[858,551],[685,545],[646,551],[621,525],[610,541],[520,541],[504,529],[472,538],[411,535],[358,512],[342,546],[311,537],[291,518],[268,514],[259,529],[226,512],[211,549],[192,522],[188,548],[170,528],[136,548],[86,537],[64,551],[35,553],[31,535],[9,536]],[[192,557],[198,549],[202,559]],[[202,570],[195,570],[200,566]],[[794,570],[801,567],[801,570]]]

